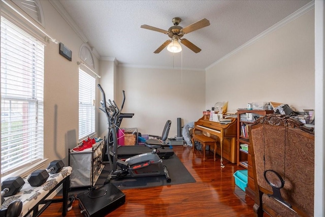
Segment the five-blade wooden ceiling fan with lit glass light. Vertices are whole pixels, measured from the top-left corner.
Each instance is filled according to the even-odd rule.
[[[198,22],[195,22],[195,23],[192,23],[192,24],[186,26],[185,28],[178,25],[181,22],[181,18],[179,18],[179,17],[174,17],[172,19],[172,22],[173,22],[174,25],[171,26],[168,30],[164,30],[164,29],[161,29],[161,28],[156,28],[156,27],[153,27],[153,26],[150,26],[150,25],[141,25],[141,28],[146,28],[146,29],[153,30],[153,31],[156,31],[156,32],[159,32],[159,33],[164,33],[164,34],[168,35],[171,38],[171,40],[167,40],[162,45],[160,45],[160,47],[158,47],[154,51],[154,53],[159,53],[166,46],[168,46],[167,49],[170,52],[174,52],[174,53],[180,52],[182,50],[182,47],[178,43],[178,40],[180,40],[183,45],[185,45],[186,47],[191,49],[193,52],[199,53],[201,51],[201,49],[199,47],[197,47],[196,45],[194,45],[193,43],[191,43],[187,39],[182,39],[182,37],[185,34],[188,34],[190,32],[193,32],[195,30],[198,30],[200,28],[203,28],[203,27],[206,27],[206,26],[210,25],[210,21],[207,20],[206,18],[204,18],[202,20],[199,20]]]

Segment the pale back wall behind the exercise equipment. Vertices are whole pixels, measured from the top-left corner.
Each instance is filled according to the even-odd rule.
[[[202,117],[205,105],[205,73],[202,71],[117,67],[117,98],[122,90],[126,100],[121,127],[138,128],[142,134],[161,135],[168,119],[172,121],[169,137],[177,136],[177,118],[184,123]],[[101,79],[101,82],[106,83]]]

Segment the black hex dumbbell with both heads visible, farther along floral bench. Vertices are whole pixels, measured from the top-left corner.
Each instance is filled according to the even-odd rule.
[[[50,176],[49,173],[58,173],[64,167],[64,163],[61,160],[52,161],[47,169],[36,170],[30,174],[28,177],[28,182],[32,187],[39,187],[46,182],[48,177]]]

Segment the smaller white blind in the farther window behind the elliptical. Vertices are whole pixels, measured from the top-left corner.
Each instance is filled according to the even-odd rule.
[[[95,133],[95,81],[79,69],[79,140]]]

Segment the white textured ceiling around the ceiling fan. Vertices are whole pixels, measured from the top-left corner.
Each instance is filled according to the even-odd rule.
[[[119,65],[204,70],[311,1],[52,1],[63,6],[100,59],[116,58]],[[57,7],[60,8],[60,7]],[[68,17],[69,17],[68,16]],[[181,53],[165,48],[167,35],[140,28],[147,24],[168,30],[172,18],[185,27],[206,18],[210,25],[183,38],[202,49],[184,45]],[[174,56],[173,56],[174,55]]]

